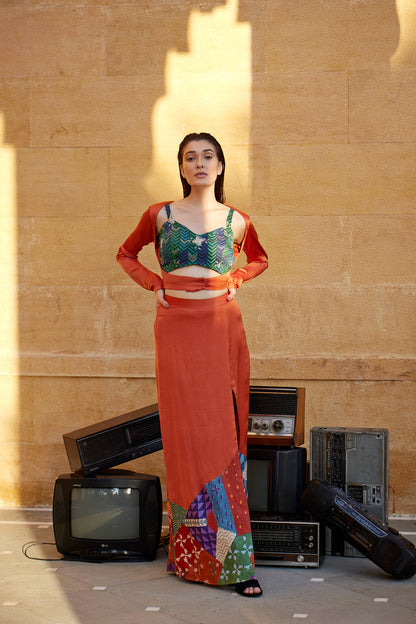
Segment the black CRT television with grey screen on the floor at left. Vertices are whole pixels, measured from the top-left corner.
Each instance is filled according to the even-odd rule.
[[[61,474],[55,481],[53,530],[63,555],[151,561],[161,526],[157,476],[113,469],[93,477]]]

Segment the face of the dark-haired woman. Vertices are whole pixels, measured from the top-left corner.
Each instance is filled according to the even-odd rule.
[[[190,141],[183,149],[180,171],[191,187],[211,186],[222,172],[222,162],[209,141]]]

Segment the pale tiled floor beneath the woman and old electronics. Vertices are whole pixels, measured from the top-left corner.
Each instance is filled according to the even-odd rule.
[[[415,542],[416,520],[391,524]],[[0,510],[1,624],[416,624],[416,576],[395,580],[365,558],[258,566],[259,599],[180,581],[165,566],[162,548],[151,563],[65,560],[50,510]]]

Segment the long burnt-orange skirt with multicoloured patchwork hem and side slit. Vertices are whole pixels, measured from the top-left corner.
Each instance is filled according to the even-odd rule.
[[[254,575],[247,505],[250,359],[240,310],[227,295],[166,297],[155,321],[166,466],[168,570],[234,584]]]

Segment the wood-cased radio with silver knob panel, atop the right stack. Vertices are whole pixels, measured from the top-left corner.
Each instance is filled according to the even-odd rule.
[[[305,388],[250,386],[248,445],[300,446]]]

